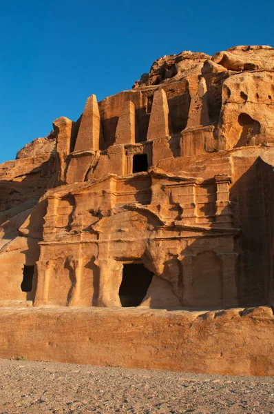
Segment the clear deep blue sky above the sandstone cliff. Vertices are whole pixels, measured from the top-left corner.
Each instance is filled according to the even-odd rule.
[[[273,0],[0,0],[0,162],[162,55],[274,46]]]

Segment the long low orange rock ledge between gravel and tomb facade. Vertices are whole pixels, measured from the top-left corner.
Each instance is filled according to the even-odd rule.
[[[269,307],[228,311],[1,308],[0,357],[274,375]]]

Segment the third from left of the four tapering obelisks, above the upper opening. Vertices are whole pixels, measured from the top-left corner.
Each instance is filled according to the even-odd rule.
[[[147,139],[165,138],[169,136],[169,106],[165,90],[159,88],[154,93],[154,100],[147,130]]]

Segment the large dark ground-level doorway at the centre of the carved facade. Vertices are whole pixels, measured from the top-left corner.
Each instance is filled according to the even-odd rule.
[[[143,264],[124,264],[119,296],[122,306],[138,306],[147,294],[154,274]]]

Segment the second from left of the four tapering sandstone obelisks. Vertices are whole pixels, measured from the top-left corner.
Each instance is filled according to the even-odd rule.
[[[115,132],[115,144],[134,144],[138,140],[135,105],[131,101],[125,101],[120,110]]]

